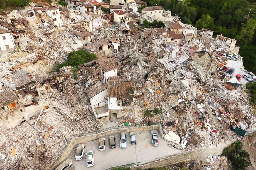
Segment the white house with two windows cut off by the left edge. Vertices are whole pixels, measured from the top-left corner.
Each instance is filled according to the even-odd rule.
[[[11,31],[0,28],[0,54],[15,48]]]

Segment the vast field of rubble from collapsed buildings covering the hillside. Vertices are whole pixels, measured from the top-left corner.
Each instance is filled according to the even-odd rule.
[[[43,24],[39,17],[21,16],[17,11],[0,17],[1,27],[22,44],[1,55],[0,169],[48,169],[74,134],[97,131],[110,120],[114,126],[161,122],[169,146],[184,151],[242,139],[232,131],[236,128],[247,134],[256,130],[245,87],[229,83],[232,77],[222,71],[227,59],[218,53],[238,53],[231,50],[227,37],[213,39],[210,30],[183,24],[170,11],[151,17],[127,10],[125,14],[132,20],[119,23],[102,13],[102,25],[93,28],[91,44],[85,45],[73,30],[82,30],[82,21],[98,15],[57,8],[62,27]],[[181,45],[166,42],[154,29],[138,27],[139,19],[179,23],[184,35]],[[56,65],[78,49],[97,54],[97,60],[78,67],[77,77],[71,66],[55,72]],[[110,70],[109,58],[115,60]],[[114,75],[106,78],[106,73],[115,69]],[[128,96],[111,96],[122,98],[117,117],[104,108],[108,115],[96,118],[86,90],[99,81],[107,85],[109,80],[131,81],[133,88],[125,87]],[[2,99],[8,90],[10,99]],[[146,110],[152,116],[144,116]],[[225,161],[208,158],[215,162],[209,166],[215,169],[217,159]]]

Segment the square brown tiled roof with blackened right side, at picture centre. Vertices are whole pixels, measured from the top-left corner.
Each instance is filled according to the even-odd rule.
[[[108,97],[118,97],[125,100],[133,100],[132,81],[109,80]]]

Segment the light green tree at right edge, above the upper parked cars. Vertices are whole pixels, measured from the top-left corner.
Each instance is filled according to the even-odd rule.
[[[255,19],[251,18],[245,24],[242,24],[241,32],[236,37],[236,39],[239,41],[239,44],[245,45],[252,42],[255,29],[256,29]]]

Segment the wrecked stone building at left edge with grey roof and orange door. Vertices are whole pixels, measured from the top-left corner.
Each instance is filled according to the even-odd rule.
[[[40,102],[41,88],[28,72],[16,70],[1,78],[0,82],[6,88],[0,93],[1,127],[17,126],[32,119],[42,108],[48,108],[46,103]]]

